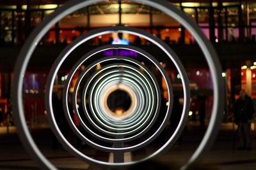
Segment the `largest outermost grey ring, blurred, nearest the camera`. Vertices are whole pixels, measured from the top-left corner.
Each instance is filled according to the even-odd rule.
[[[31,58],[32,53],[34,52],[36,45],[40,41],[40,39],[44,36],[44,34],[51,29],[52,25],[58,22],[61,18],[66,15],[84,8],[85,6],[92,5],[93,3],[99,3],[103,0],[76,0],[70,1],[69,3],[58,8],[52,15],[48,18],[45,18],[38,27],[31,32],[29,38],[26,43],[22,47],[19,57],[17,58],[14,74],[13,74],[13,87],[12,87],[12,101],[13,101],[13,113],[15,114],[15,125],[17,126],[17,131],[19,132],[20,139],[24,144],[26,150],[29,152],[31,157],[40,165],[42,169],[56,169],[49,160],[47,160],[44,155],[40,152],[38,147],[35,145],[35,141],[29,134],[28,126],[26,125],[26,120],[24,118],[24,111],[22,106],[22,83],[23,76],[26,71],[26,67],[28,66],[29,59]],[[172,4],[166,1],[146,1],[146,0],[134,0],[137,3],[143,3],[148,6],[152,6],[158,10],[163,11],[170,17],[175,18],[182,24],[186,29],[188,29],[191,34],[193,34],[196,39],[198,45],[202,49],[207,63],[209,64],[209,69],[212,75],[212,82],[214,87],[214,103],[212,109],[212,117],[209,122],[209,127],[205,132],[205,136],[202,139],[202,142],[196,149],[196,152],[193,154],[191,159],[189,159],[188,163],[182,167],[182,169],[186,169],[191,163],[193,163],[205,150],[207,150],[213,143],[216,138],[216,134],[218,133],[218,128],[221,123],[221,116],[223,113],[223,102],[224,102],[224,80],[221,77],[221,65],[218,60],[218,55],[216,54],[211,43],[205,38],[203,32],[200,30],[198,25],[189,18],[185,13],[182,13],[179,9],[177,9]],[[17,95],[17,96],[13,96]],[[178,128],[180,124],[178,125]],[[168,148],[168,143],[163,146],[163,148]],[[157,151],[151,157],[157,155],[157,153],[163,152],[164,149]],[[92,161],[92,160],[90,160]],[[93,162],[93,161],[92,161]],[[120,166],[122,164],[113,164],[113,166]]]

